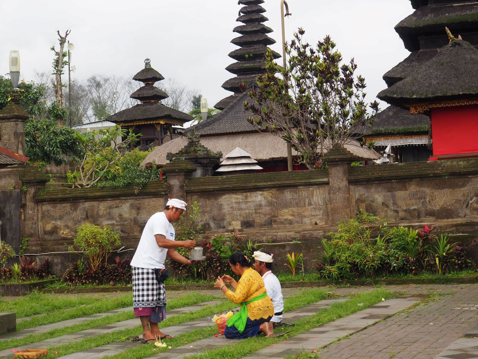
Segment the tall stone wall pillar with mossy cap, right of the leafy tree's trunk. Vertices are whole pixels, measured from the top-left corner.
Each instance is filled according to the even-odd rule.
[[[333,146],[324,156],[328,166],[330,210],[328,223],[336,224],[354,216],[351,213],[350,191],[348,188],[348,168],[353,161],[358,160],[342,145]]]

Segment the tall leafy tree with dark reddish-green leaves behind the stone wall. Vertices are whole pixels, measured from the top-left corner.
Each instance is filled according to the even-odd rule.
[[[299,161],[315,168],[321,156],[335,144],[360,138],[373,125],[378,103],[364,101],[362,76],[355,77],[357,64],[342,63],[342,55],[329,36],[315,48],[303,41],[304,30],[286,44],[289,56],[285,68],[266,54],[266,72],[257,87],[247,90],[252,102],[245,108],[260,132],[280,136],[299,153]],[[243,89],[245,90],[245,89]]]

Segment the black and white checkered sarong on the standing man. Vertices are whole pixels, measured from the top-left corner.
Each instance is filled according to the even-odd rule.
[[[166,305],[164,283],[159,284],[154,269],[131,267],[133,271],[133,308]]]

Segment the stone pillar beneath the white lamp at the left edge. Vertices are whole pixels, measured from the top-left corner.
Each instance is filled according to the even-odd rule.
[[[0,147],[25,156],[25,120],[30,116],[20,107],[20,90],[8,91],[10,103],[0,111]]]

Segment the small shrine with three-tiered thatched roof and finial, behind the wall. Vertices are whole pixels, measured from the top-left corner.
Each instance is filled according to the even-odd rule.
[[[116,123],[122,128],[130,129],[137,134],[141,133],[137,146],[162,145],[164,142],[173,139],[175,134],[174,125],[182,126],[184,123],[194,120],[194,118],[185,112],[174,110],[161,103],[161,100],[168,98],[169,95],[154,86],[154,83],[163,80],[164,77],[151,67],[150,59],[144,60],[144,64],[144,68],[133,77],[133,80],[142,82],[144,86],[141,86],[130,96],[132,99],[141,101],[141,103],[117,112],[106,120]]]

